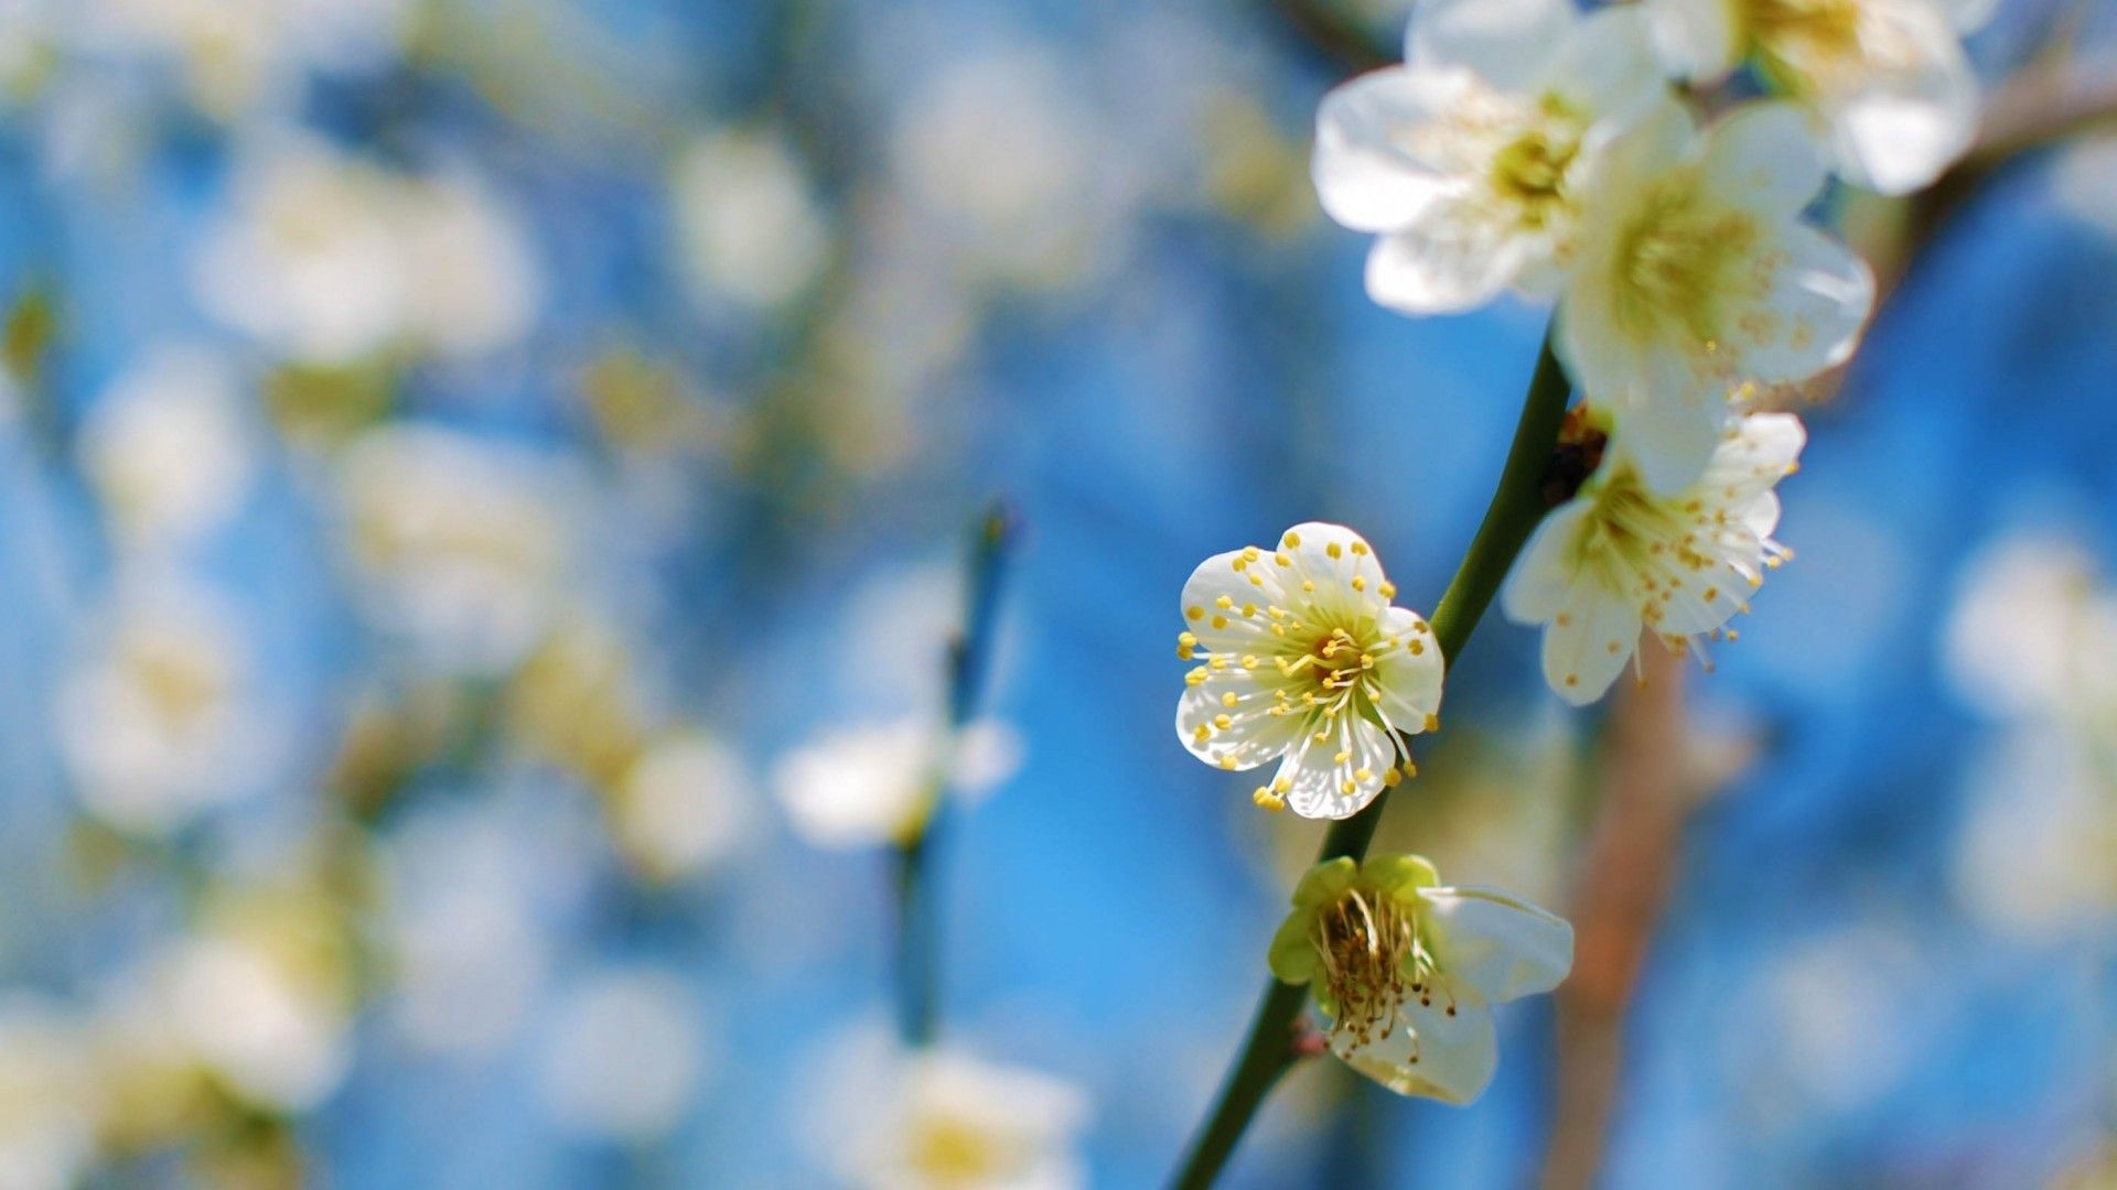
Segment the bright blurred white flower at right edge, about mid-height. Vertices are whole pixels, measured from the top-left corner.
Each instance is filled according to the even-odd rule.
[[[1956,695],[1996,718],[2066,714],[2117,663],[2117,597],[2096,559],[2058,536],[1982,548],[1948,614],[1943,671]],[[2111,650],[2087,648],[2106,639]],[[2106,682],[2106,678],[2104,678]]]

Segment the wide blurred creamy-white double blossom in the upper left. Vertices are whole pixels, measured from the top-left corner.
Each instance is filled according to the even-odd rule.
[[[292,360],[481,356],[536,315],[529,246],[468,178],[409,178],[320,140],[258,136],[231,203],[199,254],[199,294]]]

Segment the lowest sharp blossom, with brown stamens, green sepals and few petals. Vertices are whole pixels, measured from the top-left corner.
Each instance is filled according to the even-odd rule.
[[[1558,987],[1573,927],[1497,889],[1444,887],[1418,855],[1340,855],[1293,889],[1270,963],[1310,985],[1346,1065],[1397,1095],[1465,1105],[1499,1067],[1492,1004]]]

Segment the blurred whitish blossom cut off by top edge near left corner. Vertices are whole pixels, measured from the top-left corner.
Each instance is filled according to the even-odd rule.
[[[197,104],[235,119],[290,102],[307,70],[358,70],[394,53],[413,0],[85,0],[68,13],[91,55],[163,59]]]

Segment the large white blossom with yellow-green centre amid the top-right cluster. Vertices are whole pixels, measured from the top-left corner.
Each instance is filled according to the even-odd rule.
[[[1787,104],[1738,108],[1702,138],[1660,108],[1603,157],[1556,345],[1655,491],[1698,479],[1730,394],[1804,381],[1859,345],[1874,273],[1799,222],[1821,186]]]

